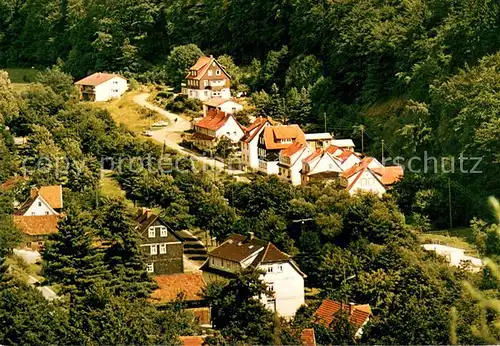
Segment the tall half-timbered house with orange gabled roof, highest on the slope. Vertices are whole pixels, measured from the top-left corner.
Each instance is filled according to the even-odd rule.
[[[201,101],[231,98],[231,76],[213,56],[202,56],[191,66],[182,93]]]

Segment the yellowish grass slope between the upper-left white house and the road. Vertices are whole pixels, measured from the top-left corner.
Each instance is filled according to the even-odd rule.
[[[165,119],[156,112],[141,107],[134,102],[134,96],[142,92],[145,92],[145,90],[130,91],[118,100],[96,102],[94,105],[108,110],[118,124],[123,124],[133,132],[149,130],[153,123]]]

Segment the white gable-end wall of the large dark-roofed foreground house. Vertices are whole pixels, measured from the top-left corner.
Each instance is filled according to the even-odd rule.
[[[262,281],[274,292],[274,297],[263,297],[262,303],[285,318],[292,318],[304,304],[304,277],[290,262],[259,265],[264,271]]]

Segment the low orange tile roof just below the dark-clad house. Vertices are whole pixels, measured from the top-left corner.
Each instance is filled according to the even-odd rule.
[[[161,275],[154,279],[158,283],[158,289],[151,294],[151,300],[158,304],[175,301],[181,292],[187,301],[201,300],[198,294],[206,286],[201,272]]]

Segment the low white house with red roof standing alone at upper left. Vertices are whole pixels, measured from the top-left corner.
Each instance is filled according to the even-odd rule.
[[[85,101],[109,101],[119,98],[128,89],[127,80],[112,73],[96,72],[75,83]]]

